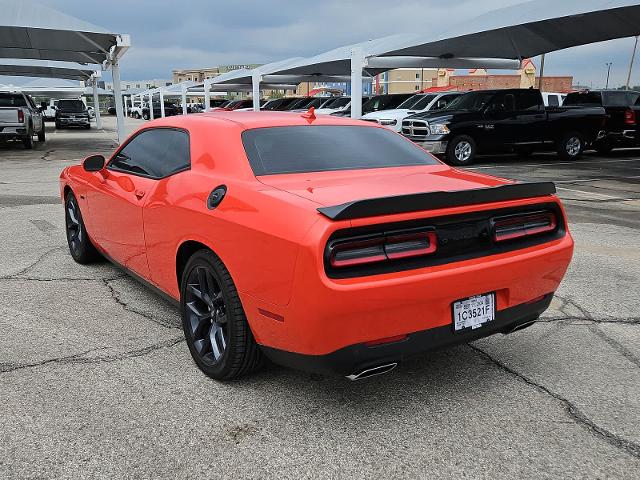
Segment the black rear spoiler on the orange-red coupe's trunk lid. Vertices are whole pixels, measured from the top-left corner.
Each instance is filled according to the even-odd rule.
[[[354,218],[460,207],[477,203],[543,197],[554,193],[556,193],[556,186],[553,182],[513,183],[473,190],[412,193],[395,197],[367,198],[333,207],[318,208],[318,211],[331,220],[351,220]]]

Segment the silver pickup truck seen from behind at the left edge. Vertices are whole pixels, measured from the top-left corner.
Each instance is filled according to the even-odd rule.
[[[45,141],[44,120],[33,99],[22,92],[0,92],[0,140],[22,140],[31,149],[34,135]]]

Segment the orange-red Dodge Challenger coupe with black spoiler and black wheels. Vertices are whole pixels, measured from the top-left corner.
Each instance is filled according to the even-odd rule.
[[[370,122],[209,113],[60,176],[69,249],[179,302],[195,363],[351,379],[532,324],[573,252],[551,183],[448,167]]]

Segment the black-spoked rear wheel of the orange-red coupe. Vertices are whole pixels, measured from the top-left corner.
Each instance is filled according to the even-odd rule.
[[[180,285],[182,327],[194,362],[216,380],[231,380],[262,365],[238,291],[209,250],[187,262]]]

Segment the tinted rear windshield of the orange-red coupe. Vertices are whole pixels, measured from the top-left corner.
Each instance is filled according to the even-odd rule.
[[[242,134],[255,175],[437,165],[420,147],[383,128],[309,125]]]

